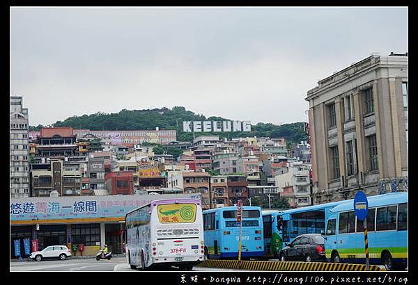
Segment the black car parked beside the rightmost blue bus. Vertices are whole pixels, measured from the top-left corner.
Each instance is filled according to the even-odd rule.
[[[327,261],[324,238],[320,234],[301,234],[279,252],[280,261]]]

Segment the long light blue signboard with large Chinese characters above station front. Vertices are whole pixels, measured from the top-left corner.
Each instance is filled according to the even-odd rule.
[[[159,195],[107,195],[81,197],[29,197],[10,199],[10,222],[117,218],[155,199],[201,199],[201,193]],[[68,237],[70,238],[70,237]]]

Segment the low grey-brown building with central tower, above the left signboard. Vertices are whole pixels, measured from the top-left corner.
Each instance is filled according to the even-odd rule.
[[[49,197],[53,190],[59,196],[82,195],[82,170],[79,162],[48,158],[43,163],[31,165],[31,170],[34,197]]]

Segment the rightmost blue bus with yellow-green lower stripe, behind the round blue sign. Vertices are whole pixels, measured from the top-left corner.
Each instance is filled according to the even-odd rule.
[[[408,262],[408,193],[367,197],[369,261],[387,270]],[[357,220],[353,199],[335,206],[327,217],[325,256],[332,262],[365,263],[363,221]]]

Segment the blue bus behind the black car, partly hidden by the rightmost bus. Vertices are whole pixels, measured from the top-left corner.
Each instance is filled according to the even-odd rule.
[[[278,222],[281,223],[282,227],[281,240],[284,245],[291,243],[295,237],[301,234],[323,233],[325,231],[325,221],[328,215],[330,215],[330,210],[343,202],[346,201],[284,210],[279,214],[278,218]]]

